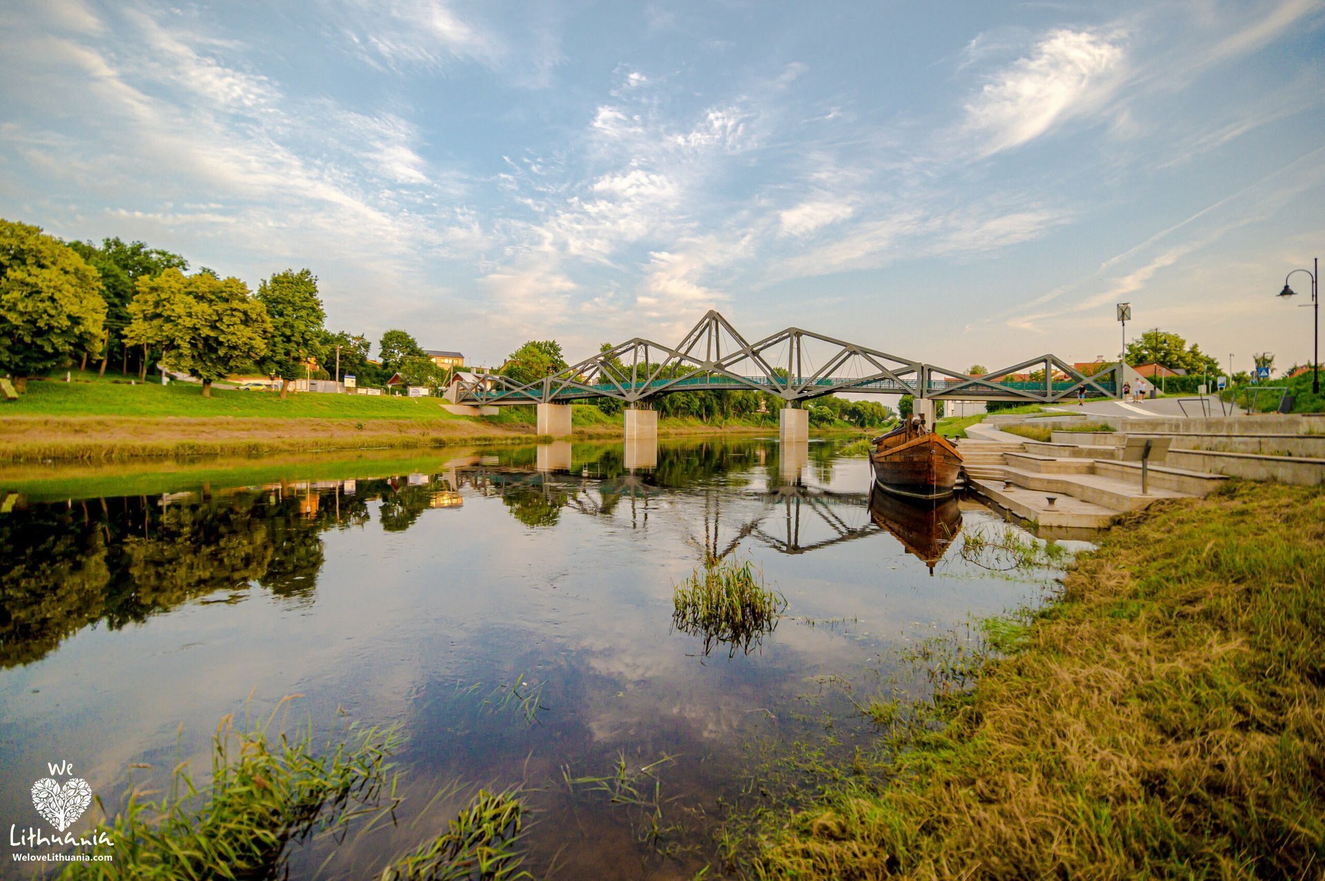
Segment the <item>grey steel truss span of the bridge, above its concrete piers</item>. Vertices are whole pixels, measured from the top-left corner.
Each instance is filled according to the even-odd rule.
[[[1027,370],[1043,372],[1039,379],[1014,378]],[[457,404],[486,405],[615,397],[637,407],[655,395],[696,391],[768,392],[787,405],[835,392],[1051,404],[1076,397],[1080,388],[1089,397],[1117,399],[1121,372],[1114,364],[1086,376],[1055,355],[1039,355],[971,376],[800,327],[751,343],[710,310],[674,347],[636,337],[531,383],[476,374],[453,388]]]

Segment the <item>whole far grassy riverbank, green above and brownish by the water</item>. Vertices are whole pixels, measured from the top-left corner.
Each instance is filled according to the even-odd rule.
[[[258,456],[350,449],[428,449],[457,444],[533,442],[533,407],[497,416],[458,416],[432,397],[290,395],[217,388],[203,397],[187,383],[32,382],[0,404],[0,460],[126,461],[144,457]],[[611,439],[620,415],[576,404],[579,439]],[[661,437],[766,433],[776,417],[705,423],[662,419]]]

